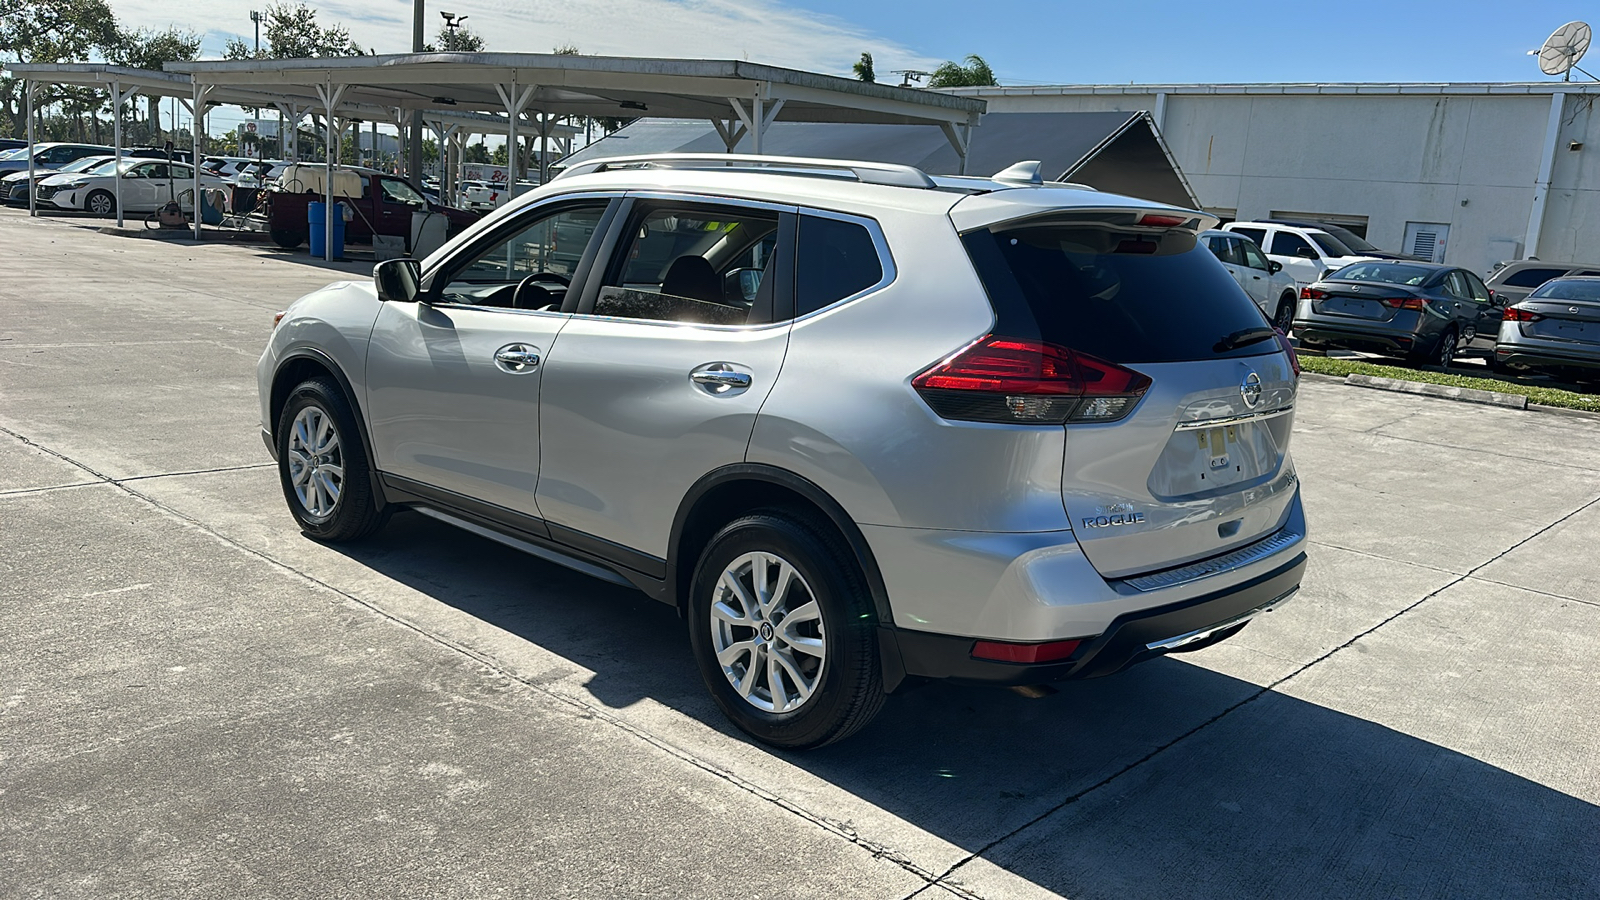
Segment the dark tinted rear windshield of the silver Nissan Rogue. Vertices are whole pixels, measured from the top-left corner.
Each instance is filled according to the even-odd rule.
[[[997,333],[1122,364],[1277,352],[1261,309],[1194,234],[1035,226],[962,240]]]

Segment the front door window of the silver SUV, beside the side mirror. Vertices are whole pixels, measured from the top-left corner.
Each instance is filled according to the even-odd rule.
[[[490,239],[466,263],[448,266],[440,303],[560,309],[605,208],[605,200],[562,207],[510,237]]]

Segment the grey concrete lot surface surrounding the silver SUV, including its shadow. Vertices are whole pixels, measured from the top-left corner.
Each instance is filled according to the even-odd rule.
[[[304,540],[253,368],[339,275],[91,224],[0,211],[5,895],[1600,892],[1597,420],[1307,381],[1288,607],[778,754],[642,594]]]

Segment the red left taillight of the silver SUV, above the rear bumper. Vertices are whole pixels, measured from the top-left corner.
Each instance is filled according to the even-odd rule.
[[[1046,424],[1117,421],[1150,380],[1058,344],[989,335],[910,384],[947,420]]]

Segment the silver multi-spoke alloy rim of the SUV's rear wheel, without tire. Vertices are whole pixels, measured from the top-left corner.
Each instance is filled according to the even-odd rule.
[[[722,674],[757,709],[798,709],[821,684],[822,609],[781,556],[747,552],[723,569],[710,602],[710,637]]]

